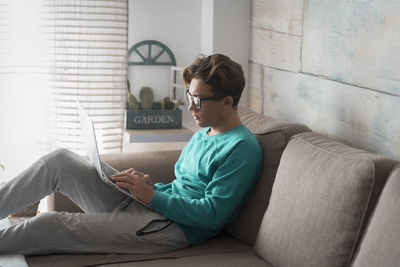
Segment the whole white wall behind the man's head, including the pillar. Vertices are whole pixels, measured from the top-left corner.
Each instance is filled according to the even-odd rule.
[[[200,54],[222,53],[240,63],[247,78],[250,0],[131,0],[129,1],[129,47],[142,40],[157,40],[184,67]],[[164,66],[130,66],[129,79],[138,96],[142,86],[155,91],[155,100],[169,95],[170,72]],[[246,106],[247,92],[240,105]],[[189,112],[183,124],[195,126]]]

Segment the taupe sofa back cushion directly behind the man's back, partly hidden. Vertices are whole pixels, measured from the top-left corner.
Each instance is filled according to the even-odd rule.
[[[310,131],[304,125],[276,120],[250,109],[239,108],[241,121],[256,135],[263,151],[263,169],[260,177],[238,217],[229,223],[225,232],[254,245],[258,228],[268,206],[276,170],[289,138]]]

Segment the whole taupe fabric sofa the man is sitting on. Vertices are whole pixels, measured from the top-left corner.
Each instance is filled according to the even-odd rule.
[[[240,116],[262,146],[264,165],[251,197],[223,233],[171,253],[31,256],[29,266],[398,266],[398,161],[247,109]],[[178,156],[120,153],[103,160],[167,182]],[[58,211],[79,211],[61,195],[53,204]]]

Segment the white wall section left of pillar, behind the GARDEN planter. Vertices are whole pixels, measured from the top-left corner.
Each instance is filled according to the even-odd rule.
[[[129,41],[131,47],[143,40],[157,40],[175,55],[177,66],[190,64],[200,53],[201,1],[129,1]],[[169,95],[170,69],[166,66],[130,66],[129,79],[134,92],[148,85],[155,100]]]

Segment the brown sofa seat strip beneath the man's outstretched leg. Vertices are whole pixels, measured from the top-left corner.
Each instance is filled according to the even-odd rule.
[[[231,254],[231,255],[230,255]],[[229,255],[229,257],[227,257]],[[189,247],[183,250],[154,254],[154,255],[120,255],[120,254],[81,254],[81,255],[43,255],[43,256],[28,256],[26,262],[30,267],[71,267],[71,266],[172,266],[173,262],[178,260],[182,265],[174,266],[218,266],[218,265],[198,265],[197,260],[204,259],[204,264],[207,259],[233,259],[242,255],[243,259],[240,262],[248,262],[248,266],[268,266],[265,261],[261,260],[254,252],[253,248],[244,242],[241,242],[228,234],[220,234],[216,238],[210,239],[207,242]],[[240,258],[240,257],[239,257]],[[168,260],[174,259],[171,265],[168,265]],[[191,259],[197,259],[191,261]],[[135,265],[137,262],[139,265]],[[144,264],[148,265],[141,265]],[[257,263],[260,262],[260,263]],[[261,265],[264,262],[264,265]],[[152,265],[154,263],[154,265]],[[186,263],[186,265],[185,265]],[[224,266],[245,266],[233,265],[235,260],[232,260],[232,265],[224,264]],[[256,264],[256,265],[253,265]],[[222,264],[221,264],[222,265]]]

